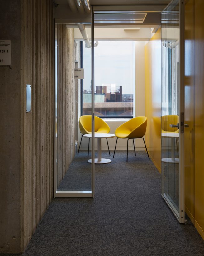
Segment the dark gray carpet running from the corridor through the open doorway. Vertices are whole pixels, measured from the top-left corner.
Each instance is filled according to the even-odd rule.
[[[204,255],[193,224],[179,224],[161,198],[154,164],[136,153],[96,165],[95,198],[53,199],[24,255]]]

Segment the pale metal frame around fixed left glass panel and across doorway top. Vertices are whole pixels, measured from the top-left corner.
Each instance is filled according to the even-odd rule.
[[[91,28],[92,28],[92,45],[94,45],[94,12],[110,12],[110,13],[117,13],[117,12],[125,12],[125,13],[161,13],[161,10],[163,10],[165,5],[126,5],[126,6],[92,6],[91,8],[91,19],[90,18],[54,18],[54,46],[55,46],[55,24],[56,23],[91,23]],[[55,47],[54,47],[54,94],[53,94],[53,116],[54,116],[54,138],[53,138],[53,156],[54,156],[54,175],[53,175],[53,185],[54,185],[54,191],[53,191],[53,196],[55,197],[93,197],[94,198],[94,192],[95,192],[95,186],[94,186],[94,173],[95,173],[95,165],[94,165],[94,140],[92,140],[92,166],[91,166],[91,173],[92,173],[92,191],[91,193],[86,193],[86,191],[83,191],[83,193],[79,193],[79,191],[62,191],[56,193],[56,173],[57,173],[57,168],[56,168],[56,161],[55,161],[55,146],[56,146],[56,137],[55,137],[55,72],[56,72],[56,58],[55,58]],[[94,136],[94,47],[92,47],[92,136]]]

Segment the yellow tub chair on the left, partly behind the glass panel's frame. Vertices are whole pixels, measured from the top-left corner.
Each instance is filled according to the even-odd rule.
[[[91,124],[92,124],[92,116],[91,115],[80,116],[79,129],[80,129],[80,132],[82,133],[82,137],[81,137],[81,141],[79,144],[78,153],[79,153],[79,149],[81,146],[83,135],[92,132]],[[107,123],[105,121],[103,121],[103,119],[95,116],[94,117],[94,132],[95,133],[109,133],[110,127],[107,125]],[[107,140],[107,145],[108,145],[108,139],[106,138],[106,140]],[[89,142],[90,142],[90,138],[88,139],[88,154],[89,154]],[[109,155],[111,155],[109,146],[108,146],[108,151],[109,151]]]

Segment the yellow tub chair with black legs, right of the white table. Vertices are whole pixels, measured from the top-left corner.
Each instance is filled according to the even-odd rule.
[[[128,157],[128,141],[129,141],[129,139],[133,140],[134,151],[135,151],[134,139],[142,138],[145,143],[143,136],[145,135],[146,127],[147,127],[147,118],[141,116],[141,117],[135,117],[135,118],[130,119],[129,121],[127,121],[126,123],[123,123],[116,129],[116,131],[115,131],[115,134],[117,137],[116,145],[117,145],[118,138],[127,139],[127,157]],[[145,144],[145,148],[147,151],[146,144]],[[115,146],[113,157],[115,155],[115,151],[116,151],[116,146]],[[147,155],[149,158],[148,151],[147,151]],[[136,156],[136,153],[135,153],[135,156]]]

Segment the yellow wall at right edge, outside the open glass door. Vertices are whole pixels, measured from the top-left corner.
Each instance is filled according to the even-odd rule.
[[[204,239],[204,1],[185,5],[185,210]]]

